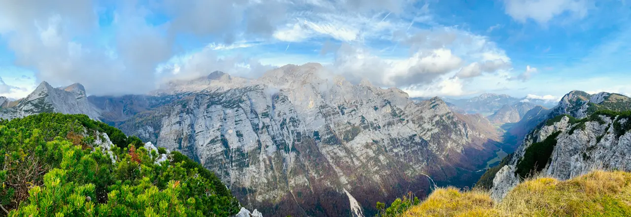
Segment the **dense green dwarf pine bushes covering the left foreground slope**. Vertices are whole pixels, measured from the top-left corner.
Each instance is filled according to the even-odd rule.
[[[110,153],[95,144],[103,129],[117,135]],[[230,216],[240,208],[199,163],[177,151],[156,163],[158,151],[85,115],[1,120],[0,154],[0,216]]]

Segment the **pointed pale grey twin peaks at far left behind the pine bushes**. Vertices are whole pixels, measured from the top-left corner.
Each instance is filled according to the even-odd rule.
[[[98,119],[98,112],[90,105],[85,89],[80,84],[64,88],[53,88],[42,82],[18,105],[0,110],[0,117],[13,119],[43,112],[59,112],[63,114],[85,114]]]

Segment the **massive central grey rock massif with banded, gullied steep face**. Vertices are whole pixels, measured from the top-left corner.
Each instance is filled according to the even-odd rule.
[[[492,156],[488,120],[322,73],[288,65],[237,87],[170,87],[191,94],[119,127],[198,160],[266,215],[368,216],[376,201],[426,194],[434,181],[470,184]]]

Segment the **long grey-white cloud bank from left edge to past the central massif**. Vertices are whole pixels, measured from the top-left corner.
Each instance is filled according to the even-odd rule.
[[[216,70],[255,78],[269,69],[269,64],[305,60],[333,61],[334,71],[351,81],[367,77],[379,86],[463,95],[469,93],[464,91],[468,85],[475,85],[463,78],[480,78],[510,66],[504,50],[488,37],[456,26],[432,23],[423,30],[412,25],[432,19],[427,4],[404,14],[413,4],[407,0],[166,0],[145,5],[115,4],[114,22],[108,32],[100,32],[95,6],[90,2],[0,3],[0,34],[9,38],[16,64],[34,69],[37,81],[46,80],[56,86],[80,82],[96,95],[146,93],[165,78],[192,78]],[[173,19],[160,25],[148,23],[155,16],[154,9]],[[179,50],[186,47],[177,44],[179,35],[211,43],[190,53]],[[105,37],[102,41],[111,43],[102,45],[102,38],[98,43],[76,39],[93,36]],[[314,51],[320,52],[320,57],[273,52],[257,56],[260,59],[239,55],[241,49],[259,44],[280,40],[292,42],[293,47],[293,42],[311,43],[314,39],[316,43],[332,41]],[[395,50],[396,45],[391,49],[393,54],[387,56],[368,48],[374,45],[372,42],[392,40],[410,52]],[[338,46],[339,42],[346,43]],[[326,55],[328,52],[334,52],[333,59]],[[454,77],[459,69],[460,78]]]

